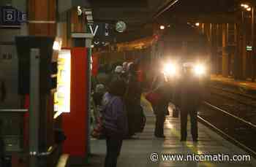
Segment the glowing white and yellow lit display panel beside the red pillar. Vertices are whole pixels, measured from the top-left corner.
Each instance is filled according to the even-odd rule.
[[[58,79],[57,92],[55,94],[54,109],[60,114],[70,112],[70,74],[71,74],[71,53],[70,50],[59,51],[58,58]]]

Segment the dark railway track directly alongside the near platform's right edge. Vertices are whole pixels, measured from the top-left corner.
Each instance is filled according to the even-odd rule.
[[[198,120],[256,158],[256,125],[205,101]]]

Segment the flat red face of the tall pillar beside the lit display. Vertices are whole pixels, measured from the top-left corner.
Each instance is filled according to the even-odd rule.
[[[62,127],[67,136],[63,152],[84,156],[88,149],[88,56],[86,47],[71,49],[70,112],[63,114]]]

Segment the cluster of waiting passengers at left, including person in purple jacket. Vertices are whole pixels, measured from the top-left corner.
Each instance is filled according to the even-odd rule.
[[[124,62],[113,71],[102,69],[107,68],[99,68],[99,74],[94,78],[96,83],[93,83],[93,135],[106,139],[105,167],[112,167],[116,166],[123,139],[132,138],[135,133],[142,131],[141,123],[135,123],[135,118],[143,117],[140,106],[143,90],[138,82],[137,63]],[[145,121],[143,120],[144,123]]]

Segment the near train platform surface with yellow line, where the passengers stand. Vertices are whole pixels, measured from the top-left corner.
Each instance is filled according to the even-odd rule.
[[[169,166],[169,167],[253,167],[256,166],[256,160],[252,157],[251,160],[226,160],[222,156],[228,156],[232,159],[233,156],[248,155],[243,150],[239,149],[229,141],[223,139],[214,131],[211,131],[206,126],[199,123],[199,141],[192,142],[192,137],[189,134],[186,142],[180,141],[180,121],[179,118],[168,116],[165,121],[165,139],[157,139],[154,137],[155,117],[151,107],[146,101],[143,102],[143,108],[146,114],[146,127],[143,133],[137,135],[135,139],[124,140],[121,148],[121,155],[118,158],[118,166],[121,167],[154,167],[154,166]],[[170,115],[172,115],[171,107]],[[188,124],[189,125],[189,124]],[[189,127],[189,126],[188,126]],[[106,146],[105,140],[91,139],[91,157],[89,162],[82,163],[83,160],[70,159],[66,167],[86,167],[86,166],[104,166]],[[166,159],[162,159],[165,155]],[[187,155],[191,157],[187,157]],[[193,157],[194,155],[194,157]],[[199,161],[199,155],[212,156],[212,159]],[[168,157],[169,156],[169,157]],[[171,157],[174,156],[174,157]],[[176,156],[181,156],[176,157]],[[221,156],[218,160],[216,156]],[[183,160],[181,160],[183,158]],[[186,159],[187,158],[187,159]],[[191,158],[191,159],[189,159]],[[194,159],[193,159],[194,158]],[[209,157],[208,157],[209,158]],[[215,158],[215,159],[214,159]]]

